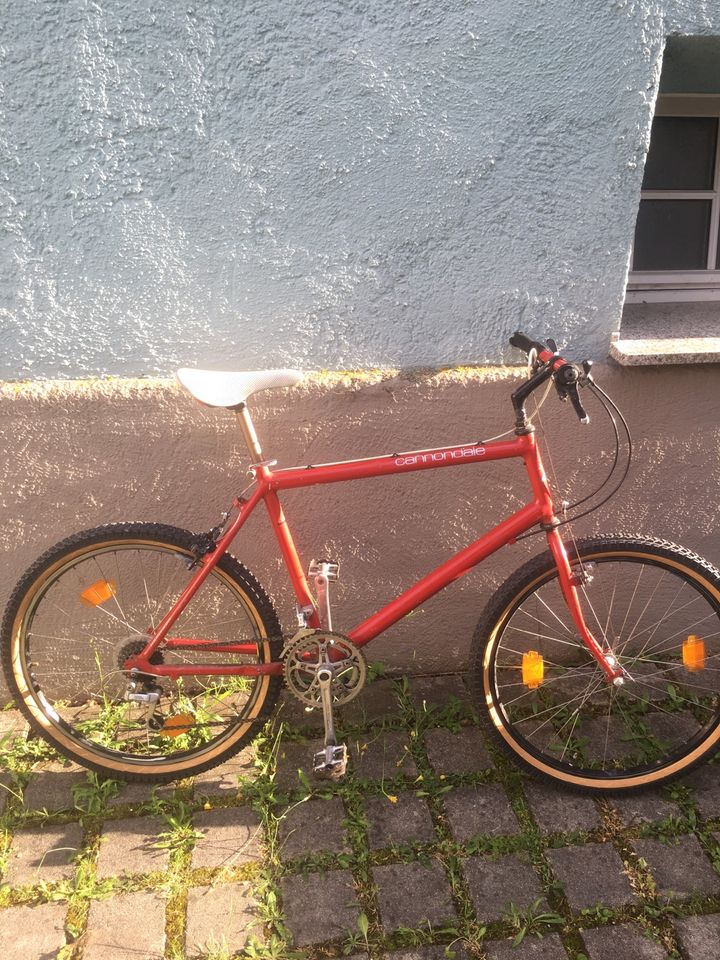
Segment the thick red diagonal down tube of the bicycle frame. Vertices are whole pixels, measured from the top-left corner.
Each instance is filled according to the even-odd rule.
[[[378,610],[363,623],[359,624],[350,631],[348,636],[359,647],[369,643],[375,637],[397,623],[404,616],[424,603],[429,597],[434,596],[443,587],[446,587],[453,580],[457,580],[476,564],[480,563],[490,554],[495,553],[500,547],[505,546],[519,534],[524,533],[539,523],[542,519],[543,508],[539,503],[529,503],[518,510],[511,517],[503,520],[496,527],[493,527],[488,533],[480,537],[469,547],[465,547],[454,557],[441,566],[436,567],[431,573],[422,580],[418,580],[414,586],[410,587],[399,597],[392,600],[382,610]]]

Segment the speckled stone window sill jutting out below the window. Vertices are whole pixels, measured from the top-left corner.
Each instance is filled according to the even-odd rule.
[[[720,303],[626,303],[610,356],[626,367],[720,363]]]

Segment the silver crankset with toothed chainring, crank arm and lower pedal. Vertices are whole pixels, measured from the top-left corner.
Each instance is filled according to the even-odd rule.
[[[300,630],[286,645],[285,682],[310,709],[322,707],[325,745],[313,756],[316,777],[339,780],[347,769],[347,748],[335,736],[333,708],[349,703],[362,690],[367,663],[348,637],[329,630]]]

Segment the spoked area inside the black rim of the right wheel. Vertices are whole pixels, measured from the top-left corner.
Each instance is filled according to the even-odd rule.
[[[516,731],[525,755],[542,758],[550,771],[610,780],[654,772],[664,757],[688,752],[720,715],[717,604],[675,568],[616,554],[593,558],[593,577],[578,596],[598,641],[628,671],[624,685],[608,683],[579,638],[573,644],[560,630],[548,611],[557,609],[565,626],[562,590],[557,579],[544,579],[524,595],[497,640],[493,675],[501,722]],[[696,666],[683,656],[693,634],[704,643]],[[544,673],[528,683],[523,657],[533,645]],[[573,664],[580,657],[564,653],[567,647],[582,652],[583,661]],[[558,663],[564,658],[569,662]]]

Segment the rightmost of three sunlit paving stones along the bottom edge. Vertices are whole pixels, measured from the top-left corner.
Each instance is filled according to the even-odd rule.
[[[242,950],[250,937],[262,939],[262,924],[248,883],[229,883],[188,890],[185,943],[189,957]]]

